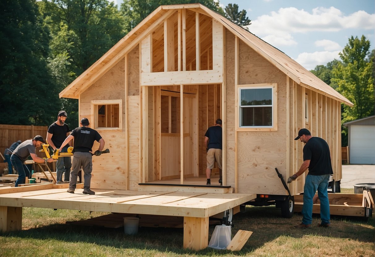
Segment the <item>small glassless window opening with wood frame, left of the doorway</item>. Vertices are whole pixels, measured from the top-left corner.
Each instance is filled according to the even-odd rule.
[[[122,129],[122,100],[91,101],[95,129]]]

